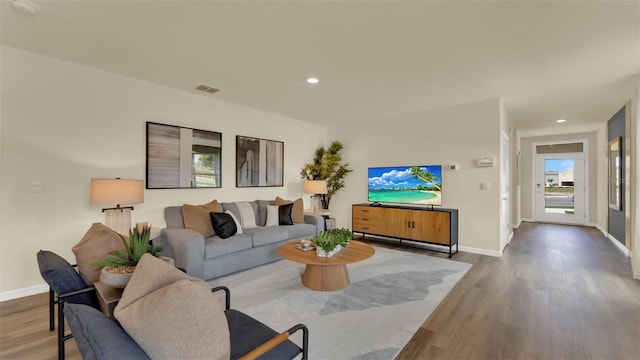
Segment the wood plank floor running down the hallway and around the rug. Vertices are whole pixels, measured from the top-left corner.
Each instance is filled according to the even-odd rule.
[[[452,259],[473,267],[398,360],[640,359],[640,281],[596,229],[523,223],[503,257]],[[41,294],[0,303],[1,359],[56,358],[47,302]],[[80,358],[73,340],[66,354]]]

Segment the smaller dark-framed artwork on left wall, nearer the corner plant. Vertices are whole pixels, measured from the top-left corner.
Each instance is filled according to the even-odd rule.
[[[236,187],[284,186],[284,142],[236,136]]]

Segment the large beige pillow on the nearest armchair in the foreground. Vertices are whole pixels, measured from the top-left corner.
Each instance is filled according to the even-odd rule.
[[[114,311],[152,359],[229,359],[224,306],[209,285],[143,255]]]

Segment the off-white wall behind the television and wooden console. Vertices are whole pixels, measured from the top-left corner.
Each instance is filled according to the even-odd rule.
[[[343,142],[344,160],[354,169],[331,199],[338,226],[350,227],[351,205],[367,201],[368,167],[441,164],[443,207],[459,210],[461,249],[500,255],[500,116],[494,99],[330,129],[330,140]],[[495,167],[475,166],[487,156]],[[450,164],[461,169],[446,170]],[[483,181],[488,191],[480,190]]]

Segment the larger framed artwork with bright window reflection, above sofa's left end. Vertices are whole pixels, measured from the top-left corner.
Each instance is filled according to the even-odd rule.
[[[222,133],[147,122],[147,189],[219,188]]]

